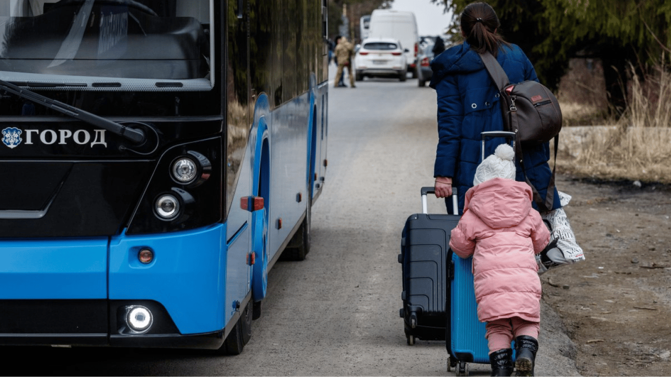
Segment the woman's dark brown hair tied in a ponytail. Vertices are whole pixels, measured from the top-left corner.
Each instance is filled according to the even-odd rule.
[[[510,45],[497,34],[501,23],[497,13],[487,3],[478,2],[466,5],[462,11],[460,23],[461,30],[466,36],[466,42],[476,52],[488,51],[497,56],[501,44]]]

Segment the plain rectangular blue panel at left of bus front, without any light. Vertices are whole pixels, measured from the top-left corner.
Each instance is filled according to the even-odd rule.
[[[0,241],[0,299],[106,299],[107,238]]]

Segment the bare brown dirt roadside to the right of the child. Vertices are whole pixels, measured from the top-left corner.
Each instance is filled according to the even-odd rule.
[[[585,377],[671,376],[671,189],[560,176],[586,260],[541,276]]]

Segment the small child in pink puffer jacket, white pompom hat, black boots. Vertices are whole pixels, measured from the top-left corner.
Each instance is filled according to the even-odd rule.
[[[486,322],[495,377],[513,372],[513,339],[516,376],[533,376],[541,298],[535,254],[550,241],[550,231],[531,207],[531,188],[515,181],[514,156],[511,146],[501,144],[478,166],[450,238],[458,256],[473,256],[478,319]]]

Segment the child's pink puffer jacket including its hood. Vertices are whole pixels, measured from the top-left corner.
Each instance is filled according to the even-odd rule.
[[[473,256],[478,319],[521,317],[540,321],[541,282],[534,254],[550,231],[531,207],[526,182],[493,178],[466,192],[464,215],[452,229],[450,248]]]

